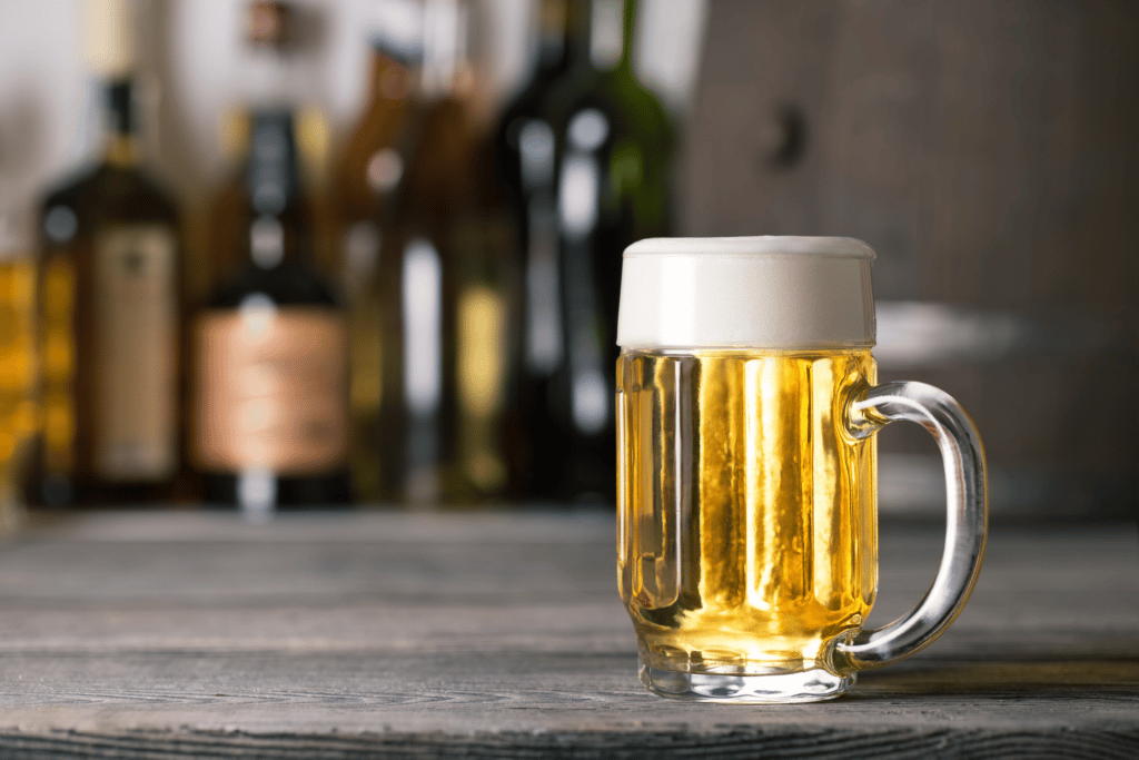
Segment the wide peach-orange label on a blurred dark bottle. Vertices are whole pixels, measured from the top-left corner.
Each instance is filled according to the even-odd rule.
[[[196,457],[212,472],[328,472],[349,453],[347,335],[329,310],[254,295],[198,324]]]

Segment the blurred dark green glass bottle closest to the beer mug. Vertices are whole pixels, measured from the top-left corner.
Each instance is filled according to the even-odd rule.
[[[495,157],[525,252],[527,493],[612,502],[621,254],[669,232],[675,133],[633,73],[636,3],[557,6],[543,3],[547,52],[505,112]]]

